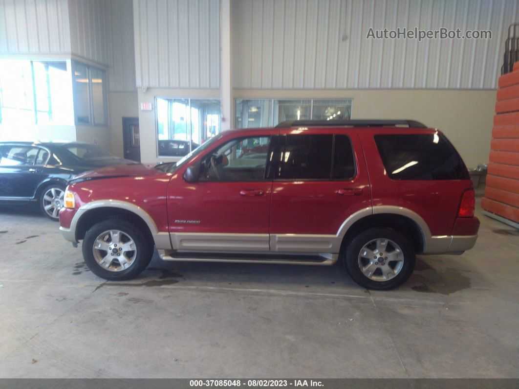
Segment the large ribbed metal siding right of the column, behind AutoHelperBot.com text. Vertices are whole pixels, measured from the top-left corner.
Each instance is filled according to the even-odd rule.
[[[236,88],[493,89],[519,0],[233,0]],[[376,29],[492,39],[366,39]]]

